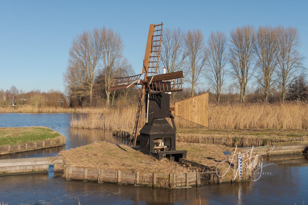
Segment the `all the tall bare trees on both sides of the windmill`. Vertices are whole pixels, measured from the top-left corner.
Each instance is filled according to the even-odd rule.
[[[254,80],[265,101],[278,88],[283,101],[290,85],[304,74],[299,33],[294,27],[268,25],[256,30],[247,25],[232,29],[229,36],[212,31],[207,40],[200,29],[186,32],[167,28],[163,33],[160,68],[166,67],[167,72],[183,70],[191,96],[198,84],[207,82],[219,102],[228,80],[239,90],[240,101],[245,102],[246,87]],[[119,94],[110,91],[114,77],[134,75],[123,50],[121,35],[110,28],[95,28],[73,38],[63,74],[70,99],[82,102],[86,98],[93,106],[97,102],[94,98],[101,97],[107,106],[113,105]],[[126,99],[127,92],[120,94]]]

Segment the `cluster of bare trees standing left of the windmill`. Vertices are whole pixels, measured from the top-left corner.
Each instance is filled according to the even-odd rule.
[[[69,51],[68,66],[63,74],[71,99],[89,98],[93,105],[94,88],[104,90],[110,104],[110,87],[120,73],[131,75],[131,65],[123,57],[124,44],[119,33],[102,27],[77,35]],[[95,78],[100,77],[100,80]],[[112,103],[115,92],[112,95]],[[81,101],[81,100],[80,100]]]

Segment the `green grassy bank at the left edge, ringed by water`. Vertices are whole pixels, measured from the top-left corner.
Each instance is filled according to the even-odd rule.
[[[0,128],[0,146],[36,142],[61,136],[60,133],[47,127],[3,127]]]

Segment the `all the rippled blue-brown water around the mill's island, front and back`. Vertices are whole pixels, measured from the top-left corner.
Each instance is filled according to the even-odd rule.
[[[106,139],[118,142],[110,132],[71,130],[70,114],[0,114],[0,126],[48,126],[70,139],[63,149]],[[76,144],[75,144],[76,142]],[[45,150],[46,152],[46,150]],[[30,155],[40,156],[35,151]],[[8,156],[8,155],[7,155]],[[43,155],[45,156],[45,155]],[[4,156],[2,156],[4,157]],[[1,158],[2,158],[1,157]],[[24,157],[19,154],[11,158]],[[286,155],[265,157],[268,165],[257,181],[167,190],[144,186],[65,180],[55,173],[0,177],[0,200],[12,204],[297,204],[308,203],[308,157]],[[253,177],[257,179],[256,173]],[[306,204],[305,203],[305,204]]]

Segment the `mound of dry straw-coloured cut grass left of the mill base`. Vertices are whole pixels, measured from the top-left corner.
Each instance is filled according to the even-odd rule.
[[[65,150],[60,155],[64,157],[65,167],[80,166],[140,173],[190,172],[189,169],[167,159],[157,161],[126,145],[114,145],[105,141]]]

